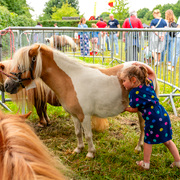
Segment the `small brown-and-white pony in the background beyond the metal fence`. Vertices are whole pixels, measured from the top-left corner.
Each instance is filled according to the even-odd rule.
[[[71,37],[67,35],[54,35],[50,38],[50,46],[52,48],[57,48],[64,51],[64,47],[67,45],[69,45],[74,52],[77,50],[76,43]]]

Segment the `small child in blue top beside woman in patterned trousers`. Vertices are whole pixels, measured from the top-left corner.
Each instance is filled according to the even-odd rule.
[[[97,25],[95,23],[92,23],[92,28],[97,28]],[[91,43],[92,43],[92,52],[90,52],[90,55],[92,54],[97,54],[98,52],[98,47],[97,47],[97,43],[98,43],[98,34],[99,32],[98,31],[92,31],[90,32],[91,33]]]

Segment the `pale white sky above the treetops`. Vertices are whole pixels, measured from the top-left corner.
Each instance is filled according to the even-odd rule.
[[[33,19],[37,19],[40,14],[43,13],[44,5],[49,0],[26,0],[27,4],[34,9],[31,11]],[[84,14],[86,19],[94,15],[94,6],[96,4],[96,16],[99,16],[102,12],[110,12],[108,2],[110,0],[79,0],[80,14]],[[164,5],[168,3],[177,3],[178,0],[127,0],[130,11],[139,10],[142,8],[149,8],[152,10],[156,5]],[[95,3],[96,2],[96,3]]]

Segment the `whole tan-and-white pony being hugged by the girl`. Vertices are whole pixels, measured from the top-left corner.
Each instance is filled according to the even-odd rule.
[[[57,95],[61,105],[74,120],[78,145],[74,150],[80,153],[84,148],[83,130],[88,143],[87,157],[93,158],[95,147],[92,139],[92,115],[112,117],[128,106],[128,91],[118,80],[117,73],[126,70],[133,62],[111,68],[98,68],[68,57],[43,44],[33,44],[19,49],[13,57],[11,72],[5,89],[17,93],[40,77]],[[147,66],[144,64],[144,66]],[[154,80],[155,87],[157,80]],[[137,150],[143,144],[144,121],[139,114],[141,135]]]

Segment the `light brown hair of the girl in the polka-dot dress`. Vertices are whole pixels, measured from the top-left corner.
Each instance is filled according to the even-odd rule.
[[[121,78],[126,78],[126,77],[128,77],[130,81],[132,77],[135,77],[141,84],[146,84],[146,85],[150,84],[150,80],[148,79],[147,69],[142,65],[140,66],[132,65],[131,67],[125,69],[125,71],[121,75]]]

